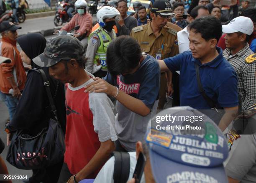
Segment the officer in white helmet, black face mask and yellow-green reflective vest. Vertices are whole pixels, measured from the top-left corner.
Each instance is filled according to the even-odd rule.
[[[116,38],[115,17],[120,16],[117,9],[104,6],[97,12],[99,27],[88,37],[88,48],[86,52],[86,70],[97,77],[104,77],[107,72],[106,52],[109,43]]]

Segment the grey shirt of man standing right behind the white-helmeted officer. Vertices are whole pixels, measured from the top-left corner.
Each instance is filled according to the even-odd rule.
[[[122,27],[118,24],[118,17],[115,19],[115,23],[116,23],[116,27],[118,29],[118,36],[122,36],[122,35],[125,35],[125,36],[129,36],[130,33],[131,33],[131,30],[134,28],[134,27],[137,27],[138,26],[138,22],[136,20],[136,18],[128,15],[124,20],[124,23],[125,25],[123,25]]]

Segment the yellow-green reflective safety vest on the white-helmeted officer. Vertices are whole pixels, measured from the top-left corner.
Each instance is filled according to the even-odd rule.
[[[103,28],[99,27],[97,28],[94,32],[92,32],[89,37],[88,40],[90,40],[90,38],[94,35],[97,34],[97,36],[99,36],[100,38],[100,46],[97,49],[97,52],[95,54],[95,57],[93,58],[93,62],[94,64],[97,64],[97,60],[100,60],[100,64],[102,66],[102,70],[103,71],[108,71],[107,69],[107,63],[106,63],[106,53],[107,53],[107,48],[109,43],[112,41],[111,37],[108,35],[108,33],[105,32],[105,30],[103,30]],[[114,38],[116,38],[116,34],[115,34],[115,30],[112,29],[112,34],[114,35]]]

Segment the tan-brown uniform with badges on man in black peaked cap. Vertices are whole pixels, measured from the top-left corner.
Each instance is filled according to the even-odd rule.
[[[177,31],[174,28],[163,27],[158,37],[154,35],[150,23],[135,27],[131,31],[131,37],[135,38],[141,46],[141,51],[156,57],[161,53],[161,59],[175,56],[179,53],[177,44]],[[159,93],[158,109],[163,109],[166,99],[166,76],[161,73],[161,87]]]

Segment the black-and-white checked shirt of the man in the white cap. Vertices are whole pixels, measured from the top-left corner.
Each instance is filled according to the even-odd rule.
[[[256,64],[246,64],[245,59],[254,54],[247,43],[235,55],[230,55],[230,49],[223,51],[223,56],[235,69],[238,76],[238,91],[241,94],[242,109],[246,110],[256,104]]]

